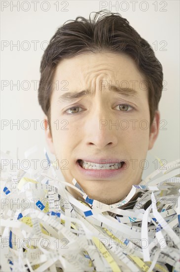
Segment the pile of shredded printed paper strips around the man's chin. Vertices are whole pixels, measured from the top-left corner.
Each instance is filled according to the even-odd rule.
[[[45,154],[48,170],[1,167],[2,271],[168,272],[168,265],[180,271],[179,160],[133,185],[125,200],[106,205],[75,179],[74,185],[59,180]]]

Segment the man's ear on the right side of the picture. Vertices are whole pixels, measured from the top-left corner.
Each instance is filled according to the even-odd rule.
[[[159,121],[160,121],[160,112],[156,111],[154,115],[154,120],[151,124],[150,131],[149,131],[149,145],[148,150],[150,150],[154,142],[159,134]]]

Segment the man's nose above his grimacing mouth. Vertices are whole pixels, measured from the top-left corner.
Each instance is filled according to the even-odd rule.
[[[112,148],[117,145],[118,130],[105,108],[99,108],[89,115],[85,124],[85,139],[87,145],[95,145],[98,149]]]

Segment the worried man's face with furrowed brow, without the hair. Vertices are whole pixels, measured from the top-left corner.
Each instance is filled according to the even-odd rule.
[[[47,130],[46,137],[65,180],[72,183],[75,178],[90,198],[115,203],[141,181],[147,150],[158,135],[158,124],[149,128],[144,80],[135,62],[119,53],[83,53],[57,66],[51,96],[52,135]],[[85,90],[92,94],[61,98],[67,92]],[[159,112],[155,119],[158,123]],[[77,160],[82,160],[80,165]],[[108,169],[102,168],[102,162],[109,163]],[[110,163],[118,164],[111,167]]]

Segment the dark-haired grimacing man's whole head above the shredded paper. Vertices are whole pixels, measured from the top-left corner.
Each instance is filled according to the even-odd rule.
[[[40,72],[46,139],[65,180],[107,204],[125,198],[159,130],[163,73],[150,45],[118,13],[97,12],[57,30]]]

